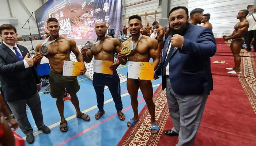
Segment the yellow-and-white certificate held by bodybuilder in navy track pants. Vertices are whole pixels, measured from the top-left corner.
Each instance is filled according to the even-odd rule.
[[[93,60],[93,72],[95,73],[104,73],[104,74],[113,74],[113,70],[109,68],[112,65],[112,61],[103,61],[103,60]]]

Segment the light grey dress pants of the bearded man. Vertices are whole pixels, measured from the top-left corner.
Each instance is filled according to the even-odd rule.
[[[208,95],[177,95],[167,76],[166,96],[174,126],[172,129],[179,134],[176,146],[194,146]]]

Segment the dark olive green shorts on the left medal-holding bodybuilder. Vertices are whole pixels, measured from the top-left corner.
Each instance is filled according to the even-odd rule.
[[[64,89],[67,93],[74,95],[79,91],[80,85],[76,76],[62,76],[63,73],[50,72],[50,95],[53,98],[63,98]]]

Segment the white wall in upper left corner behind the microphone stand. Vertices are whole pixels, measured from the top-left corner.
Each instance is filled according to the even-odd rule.
[[[30,13],[37,10],[42,5],[42,0],[21,0],[29,9]],[[12,16],[18,19],[18,25],[15,25],[18,35],[29,35],[29,25],[26,24],[23,29],[21,27],[25,24],[29,18],[29,13],[22,6],[19,0],[9,0]],[[10,11],[8,8],[7,0],[0,0],[1,12],[0,12],[0,25],[9,23]],[[33,16],[35,18],[35,15]],[[34,19],[30,18],[30,31],[31,34],[38,34],[37,25]]]

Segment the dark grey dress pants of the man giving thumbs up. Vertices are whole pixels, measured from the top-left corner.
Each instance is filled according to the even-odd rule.
[[[29,99],[11,101],[7,103],[10,106],[11,111],[19,124],[20,130],[25,135],[33,133],[33,128],[31,127],[29,120],[27,118],[26,104],[29,106],[31,110],[37,128],[41,128],[42,126],[44,126],[41,101],[39,94],[37,92],[34,95],[32,95]]]

